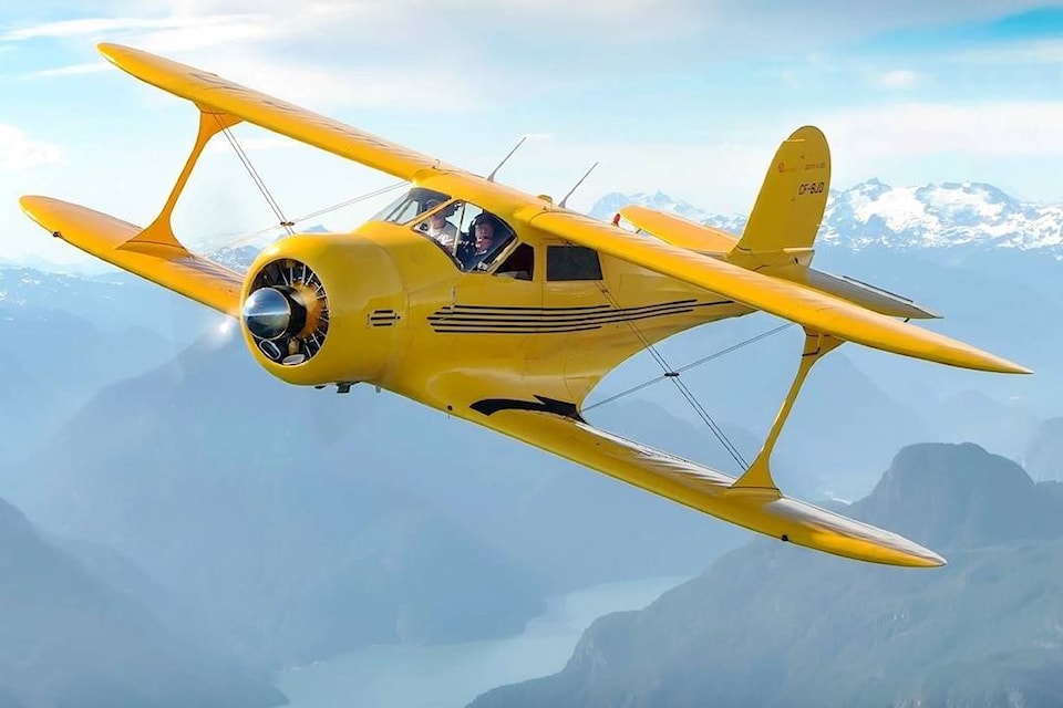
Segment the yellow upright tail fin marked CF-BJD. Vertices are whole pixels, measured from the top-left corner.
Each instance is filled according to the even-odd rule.
[[[775,152],[732,254],[752,257],[765,264],[793,259],[807,262],[829,190],[827,138],[817,127],[797,128]],[[777,258],[783,254],[785,259]]]

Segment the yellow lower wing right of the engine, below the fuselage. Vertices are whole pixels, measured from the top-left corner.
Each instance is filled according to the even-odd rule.
[[[546,402],[549,403],[549,402]],[[896,533],[788,499],[775,490],[731,489],[734,478],[708,467],[599,430],[575,417],[544,412],[535,403],[519,409],[483,408],[466,417],[510,437],[586,465],[622,481],[752,531],[836,555],[929,568],[937,553]],[[530,408],[530,409],[529,409]]]

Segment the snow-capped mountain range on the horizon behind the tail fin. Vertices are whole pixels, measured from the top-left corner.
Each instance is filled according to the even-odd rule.
[[[590,214],[609,219],[630,204],[735,233],[745,227],[745,216],[711,214],[661,192],[609,194]],[[1023,202],[980,183],[890,187],[869,179],[849,189],[832,190],[819,242],[854,250],[871,246],[898,250],[973,246],[1044,249],[1063,256],[1063,204]]]

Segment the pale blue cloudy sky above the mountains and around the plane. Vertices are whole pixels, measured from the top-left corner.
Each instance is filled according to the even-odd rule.
[[[833,186],[985,181],[1063,201],[1063,2],[38,0],[0,7],[0,260],[85,266],[22,215],[42,194],[161,209],[196,108],[112,66],[128,44],[589,209],[657,191],[746,212],[778,143],[818,125]],[[286,218],[393,178],[239,125]],[[350,229],[386,197],[314,220]],[[190,244],[277,222],[215,138],[178,204]]]

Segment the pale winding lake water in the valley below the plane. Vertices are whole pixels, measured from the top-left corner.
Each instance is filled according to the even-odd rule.
[[[291,708],[463,708],[503,684],[555,674],[596,618],[641,610],[687,577],[596,585],[553,598],[508,639],[444,646],[379,646],[282,671]]]

